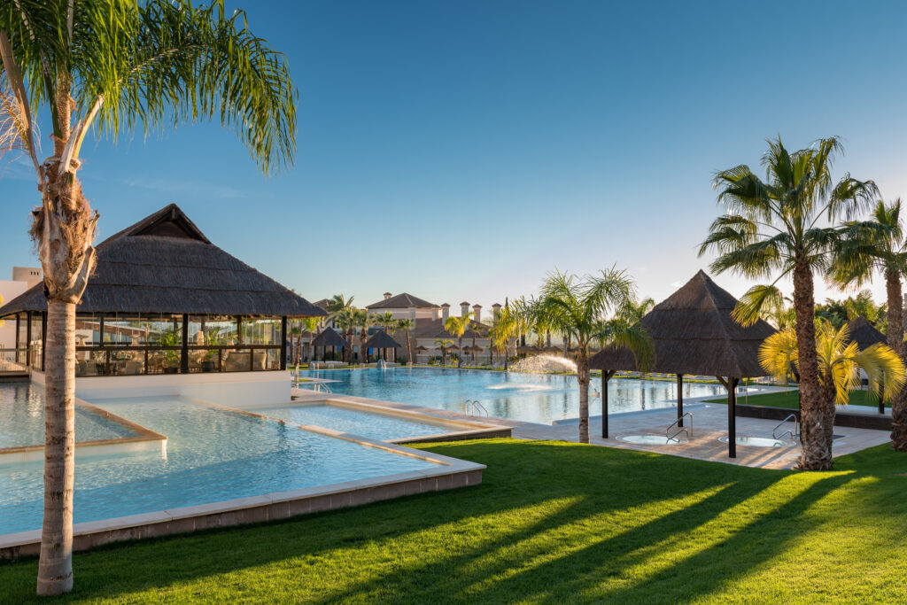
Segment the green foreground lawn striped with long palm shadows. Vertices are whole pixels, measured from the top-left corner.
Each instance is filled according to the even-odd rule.
[[[828,473],[551,442],[424,447],[488,464],[483,484],[77,553],[69,598],[907,600],[907,456],[887,445]],[[0,564],[0,600],[34,600],[36,567]]]

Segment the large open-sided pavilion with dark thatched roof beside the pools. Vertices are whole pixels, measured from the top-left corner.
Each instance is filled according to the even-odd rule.
[[[38,284],[0,307],[15,361],[44,369]],[[286,369],[287,322],[325,311],[212,244],[171,204],[97,246],[76,311],[76,376]]]

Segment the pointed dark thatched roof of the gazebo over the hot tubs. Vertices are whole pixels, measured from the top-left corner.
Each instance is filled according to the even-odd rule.
[[[759,346],[775,332],[761,319],[742,327],[731,317],[737,300],[719,288],[704,271],[654,307],[641,320],[655,346],[655,360],[646,368],[665,374],[765,376]],[[606,348],[590,359],[590,367],[636,370],[627,349]]]

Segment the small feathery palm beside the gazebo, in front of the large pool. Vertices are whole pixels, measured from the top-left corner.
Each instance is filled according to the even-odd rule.
[[[538,305],[532,307],[536,318],[576,343],[580,443],[589,443],[589,348],[593,340],[626,346],[637,357],[639,366],[646,366],[651,355],[649,337],[640,328],[614,323],[605,329],[608,316],[626,307],[634,294],[633,282],[626,271],[616,268],[602,271],[601,277],[581,279],[555,271],[542,284]]]

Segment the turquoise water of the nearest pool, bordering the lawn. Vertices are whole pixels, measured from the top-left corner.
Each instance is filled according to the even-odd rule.
[[[275,420],[171,397],[91,402],[168,437],[167,454],[76,458],[74,521],[87,522],[433,468]],[[43,464],[0,465],[0,534],[41,527]]]

